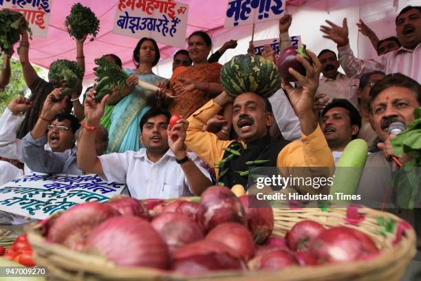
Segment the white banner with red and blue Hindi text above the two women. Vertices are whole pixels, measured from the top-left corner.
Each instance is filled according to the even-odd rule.
[[[119,0],[113,32],[184,48],[188,5],[173,0]]]

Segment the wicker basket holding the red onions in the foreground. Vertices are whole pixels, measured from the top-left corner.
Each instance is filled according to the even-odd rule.
[[[381,254],[369,261],[327,264],[317,267],[287,267],[279,271],[219,271],[186,276],[155,269],[116,267],[97,256],[78,253],[59,244],[49,244],[34,227],[29,240],[36,263],[47,267],[52,280],[399,280],[415,255],[415,233],[407,222],[393,214],[369,208],[274,209],[274,233],[284,235],[300,220],[315,220],[327,227],[346,225],[367,233]],[[395,227],[385,227],[388,221]],[[380,219],[380,220],[379,220]],[[393,223],[394,222],[394,223]]]

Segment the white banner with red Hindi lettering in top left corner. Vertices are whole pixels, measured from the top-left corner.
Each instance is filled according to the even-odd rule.
[[[52,0],[0,0],[0,9],[21,12],[28,21],[33,37],[47,38]]]

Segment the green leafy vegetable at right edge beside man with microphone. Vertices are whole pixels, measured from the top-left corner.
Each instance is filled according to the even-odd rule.
[[[413,209],[421,204],[421,107],[413,112],[414,121],[408,129],[391,139],[393,154],[406,154],[412,160],[393,173],[393,183],[397,187],[396,203],[401,208]]]

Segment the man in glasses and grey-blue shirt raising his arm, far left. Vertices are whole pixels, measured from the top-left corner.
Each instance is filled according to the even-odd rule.
[[[83,171],[77,167],[76,148],[63,151],[63,147],[74,147],[75,132],[80,127],[78,120],[71,114],[66,115],[72,116],[72,118],[69,119],[67,117],[67,119],[62,119],[61,121],[54,117],[61,116],[58,112],[62,112],[66,107],[68,96],[61,101],[55,101],[54,99],[60,97],[62,90],[63,88],[55,89],[45,99],[34,129],[22,139],[22,156],[26,165],[33,171],[47,174],[82,175]],[[47,143],[45,136],[47,130],[47,136],[53,149],[52,152],[44,149],[44,145]],[[63,144],[63,147],[61,147],[61,152],[56,152],[54,149],[59,143],[65,143],[65,145]],[[107,149],[107,145],[107,129],[100,127],[96,132],[96,153],[101,155]]]

